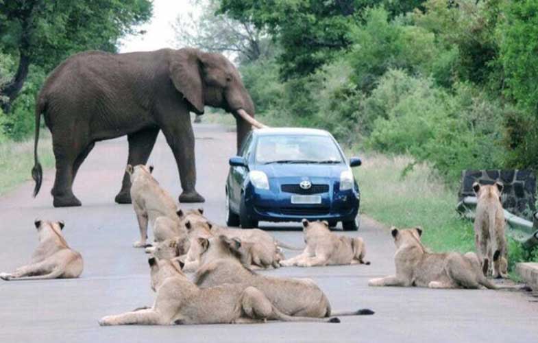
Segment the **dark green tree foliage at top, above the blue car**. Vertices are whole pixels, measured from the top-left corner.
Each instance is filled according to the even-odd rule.
[[[222,0],[219,12],[267,27],[280,46],[281,78],[313,73],[352,44],[348,33],[365,8],[384,4],[391,16],[413,10],[421,0]]]

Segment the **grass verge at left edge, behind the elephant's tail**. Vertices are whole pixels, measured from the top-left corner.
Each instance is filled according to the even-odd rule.
[[[51,136],[41,132],[38,156],[43,169],[54,166]],[[22,182],[32,180],[34,167],[34,139],[23,142],[0,143],[0,196],[8,193]]]

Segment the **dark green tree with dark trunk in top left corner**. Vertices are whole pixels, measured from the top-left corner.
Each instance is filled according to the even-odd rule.
[[[16,60],[16,71],[0,85],[7,112],[29,66],[49,71],[78,51],[116,51],[116,41],[151,18],[149,0],[0,0],[0,49]]]

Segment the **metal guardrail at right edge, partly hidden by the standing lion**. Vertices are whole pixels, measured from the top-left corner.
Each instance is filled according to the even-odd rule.
[[[468,220],[474,220],[474,208],[476,207],[476,202],[477,200],[475,196],[466,196],[461,202],[458,202],[456,211],[462,217]],[[538,212],[534,214],[534,217],[538,222]],[[530,249],[534,246],[538,246],[538,228],[533,225],[533,222],[518,217],[506,210],[504,210],[504,219],[511,228],[511,231],[509,231],[511,236],[515,240],[522,242],[524,248]]]

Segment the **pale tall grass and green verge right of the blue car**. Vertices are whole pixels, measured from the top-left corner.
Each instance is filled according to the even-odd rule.
[[[407,156],[364,156],[363,165],[355,169],[361,211],[387,226],[421,226],[422,240],[432,250],[474,250],[472,223],[454,210],[456,190],[448,189],[428,165],[409,169],[411,163],[413,158]]]

